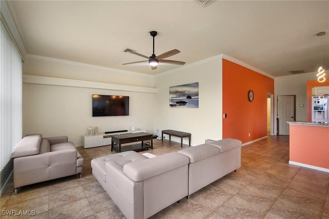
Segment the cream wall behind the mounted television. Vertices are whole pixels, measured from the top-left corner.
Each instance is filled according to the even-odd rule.
[[[117,78],[117,72],[107,69],[33,59],[27,59],[25,67],[27,68],[23,70],[26,74],[26,81],[23,83],[23,136],[31,133],[41,133],[45,137],[67,135],[69,141],[80,146],[82,135],[87,134],[87,128],[90,126],[98,126],[99,132],[104,132],[129,130],[134,125],[136,129],[153,133],[156,90],[152,88],[153,77],[121,72]],[[64,78],[74,79],[52,78],[56,72],[59,72],[60,76],[65,76]],[[62,75],[62,72],[65,72],[65,75]],[[90,81],[78,81],[80,72],[88,72],[89,76],[83,73],[84,76],[80,79]],[[42,76],[31,76],[32,74]],[[106,89],[103,85],[107,83],[99,83],[101,86],[98,88],[98,84],[95,86],[93,83],[93,78],[88,77],[93,77],[95,81],[99,81],[96,78],[103,78],[103,82],[121,81],[122,84],[115,89],[112,88],[116,86],[108,84]],[[127,81],[129,86],[125,86],[124,81]],[[92,86],[88,86],[89,84]],[[136,87],[146,84],[149,87]],[[130,96],[130,115],[92,117],[92,94]]]

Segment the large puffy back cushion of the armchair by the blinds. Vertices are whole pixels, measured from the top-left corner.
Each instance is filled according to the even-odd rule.
[[[38,154],[40,151],[41,139],[41,134],[26,135],[11,151],[11,158]]]

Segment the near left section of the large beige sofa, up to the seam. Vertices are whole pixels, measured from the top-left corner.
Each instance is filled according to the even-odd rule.
[[[149,218],[188,195],[189,158],[177,152],[147,158],[125,151],[91,164],[94,176],[127,218]]]

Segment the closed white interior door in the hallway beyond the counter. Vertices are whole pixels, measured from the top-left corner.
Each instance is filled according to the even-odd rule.
[[[295,121],[295,96],[278,96],[278,134],[288,135],[289,124]]]

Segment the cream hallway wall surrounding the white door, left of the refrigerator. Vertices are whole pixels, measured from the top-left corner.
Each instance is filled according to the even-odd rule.
[[[275,99],[280,95],[296,95],[296,121],[306,121],[306,82],[316,79],[316,72],[276,77],[274,79]],[[275,115],[277,115],[276,101]],[[275,124],[275,130],[277,130],[277,124]]]

